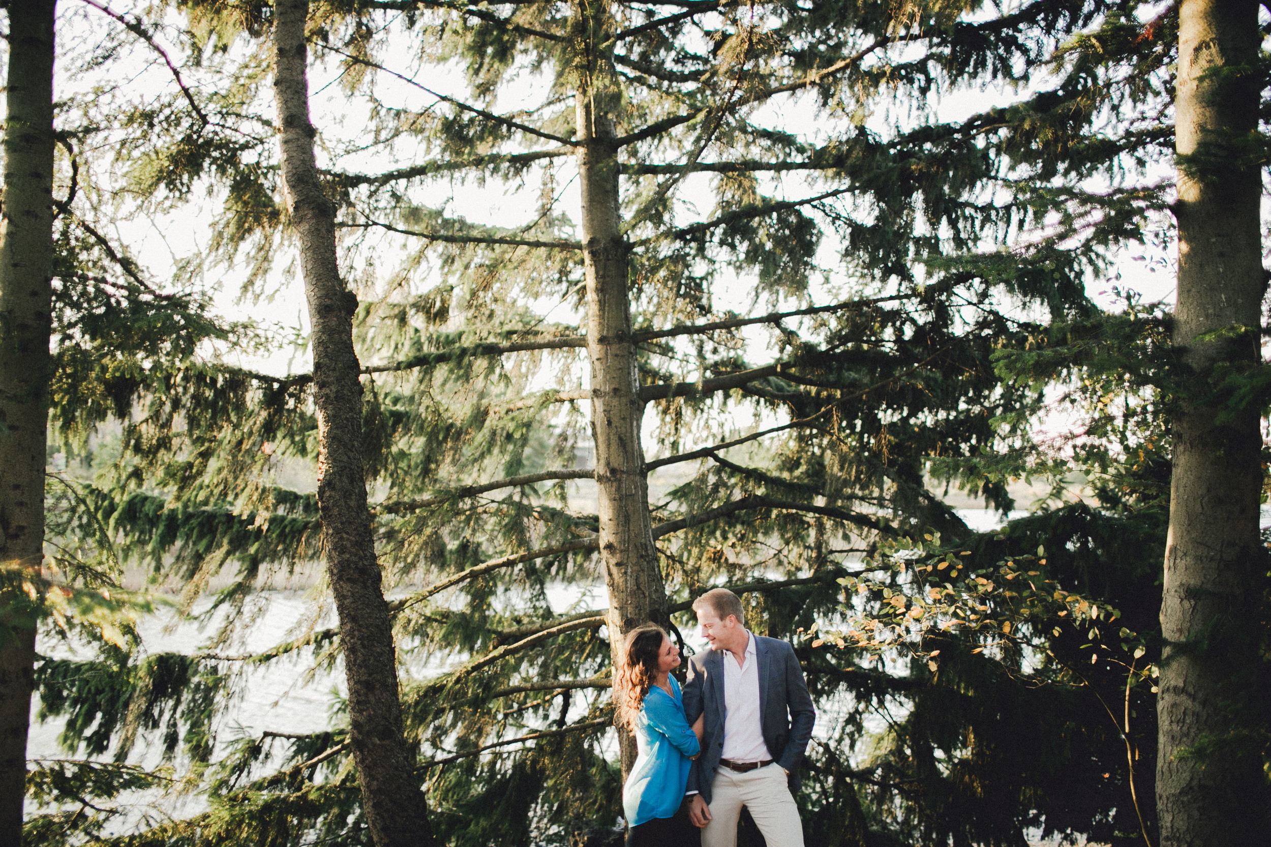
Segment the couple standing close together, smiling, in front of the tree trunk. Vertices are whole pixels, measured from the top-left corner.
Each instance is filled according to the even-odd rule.
[[[632,630],[618,671],[619,720],[639,757],[623,786],[627,847],[735,847],[741,808],[768,847],[803,847],[791,790],[816,712],[794,650],[747,632],[727,589],[693,604],[710,650],[689,659],[648,624]],[[688,806],[689,822],[676,813]]]

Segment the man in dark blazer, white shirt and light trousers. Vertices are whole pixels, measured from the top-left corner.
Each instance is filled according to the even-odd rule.
[[[746,631],[741,600],[727,589],[693,604],[710,651],[689,659],[684,711],[704,717],[702,755],[689,772],[689,818],[702,847],[736,847],[741,808],[768,847],[803,847],[798,788],[816,711],[794,650]]]

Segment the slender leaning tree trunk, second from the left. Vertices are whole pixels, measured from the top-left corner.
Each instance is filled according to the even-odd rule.
[[[275,5],[273,90],[282,146],[282,184],[300,237],[309,303],[318,408],[318,507],[327,574],[339,614],[348,679],[353,762],[362,808],[379,847],[433,843],[414,755],[402,734],[397,656],[375,557],[362,465],[362,387],[353,351],[357,298],[336,261],[336,207],[323,193],[309,122],[305,20],[308,0]]]

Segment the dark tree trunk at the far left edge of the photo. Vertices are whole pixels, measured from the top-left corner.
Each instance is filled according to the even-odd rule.
[[[44,557],[53,289],[53,0],[9,4],[0,223],[0,563]],[[22,838],[36,628],[0,621],[0,844]]]

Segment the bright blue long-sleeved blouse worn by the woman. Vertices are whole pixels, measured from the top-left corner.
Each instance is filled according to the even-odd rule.
[[[689,782],[693,764],[689,757],[702,749],[684,717],[680,683],[674,677],[671,691],[674,696],[653,685],[636,719],[639,755],[623,786],[623,810],[629,827],[675,815]]]

